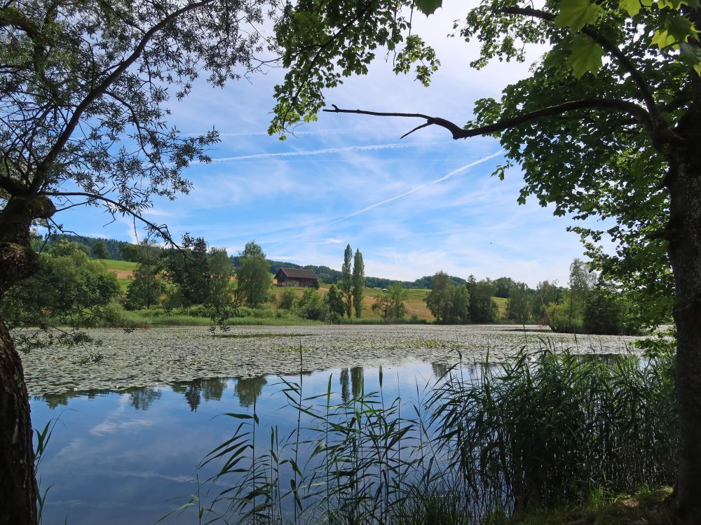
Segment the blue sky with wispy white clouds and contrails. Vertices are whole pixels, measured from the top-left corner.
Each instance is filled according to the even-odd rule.
[[[395,76],[382,53],[369,74],[350,78],[326,93],[327,104],[347,109],[426,113],[462,125],[480,97],[528,74],[542,49],[531,48],[525,64],[468,63],[478,48],[447,38],[464,3],[426,19],[414,15],[414,31],[441,59],[430,87]],[[462,4],[462,5],[461,5]],[[555,217],[531,198],[519,206],[518,167],[505,180],[491,176],[505,163],[496,139],[454,141],[438,127],[405,139],[420,120],[320,113],[318,122],[297,127],[286,141],[266,133],[275,104],[273,87],[284,71],[229,83],[224,90],[196,83],[182,102],[172,102],[170,123],[184,134],[214,127],[221,143],[211,164],[193,164],[189,195],[155,200],[144,217],[165,223],[179,239],[189,232],[229,254],[256,241],[273,260],[340,269],[346,244],[360,249],[365,274],[413,281],[440,270],[477,279],[510,276],[534,287],[566,283],[573,258],[583,256],[569,217]],[[77,207],[55,217],[65,229],[93,237],[135,241],[144,230],[132,220]]]

